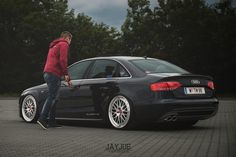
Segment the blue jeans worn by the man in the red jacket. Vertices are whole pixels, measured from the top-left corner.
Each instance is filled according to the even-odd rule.
[[[55,123],[56,103],[58,101],[61,79],[51,73],[44,73],[43,77],[48,86],[48,97],[44,102],[39,119],[47,121],[49,118],[49,123]]]

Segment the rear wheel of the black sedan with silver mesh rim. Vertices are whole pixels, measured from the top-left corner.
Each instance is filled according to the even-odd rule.
[[[135,123],[131,102],[122,95],[113,97],[108,104],[107,119],[115,129],[132,129]]]

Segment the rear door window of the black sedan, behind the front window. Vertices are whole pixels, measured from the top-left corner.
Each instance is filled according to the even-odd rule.
[[[97,60],[89,74],[89,78],[114,77],[117,63],[111,60]]]

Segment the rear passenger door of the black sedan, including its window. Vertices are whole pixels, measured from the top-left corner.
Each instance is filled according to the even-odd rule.
[[[114,92],[117,92],[116,70],[118,63],[114,60],[99,59],[91,67],[81,85],[86,89],[86,97],[90,99],[90,110],[85,113],[89,118],[98,118],[103,116],[103,104]]]

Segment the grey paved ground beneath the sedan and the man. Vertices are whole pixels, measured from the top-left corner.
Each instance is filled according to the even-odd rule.
[[[42,130],[18,117],[18,100],[0,100],[0,157],[235,157],[236,101],[221,100],[215,117],[192,128],[145,125],[120,131],[96,122]]]

